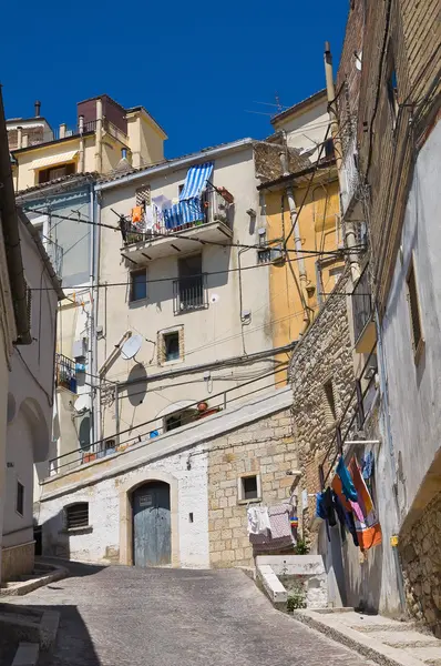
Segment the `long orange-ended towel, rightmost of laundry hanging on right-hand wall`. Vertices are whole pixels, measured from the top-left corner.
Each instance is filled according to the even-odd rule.
[[[360,467],[356,457],[349,463],[349,472],[352,476],[353,485],[357,491],[358,500],[351,501],[353,521],[357,529],[357,537],[362,551],[368,551],[372,546],[381,544],[381,527],[378,522],[372,498],[369,494]]]

